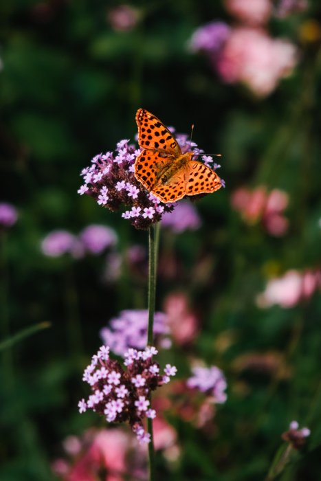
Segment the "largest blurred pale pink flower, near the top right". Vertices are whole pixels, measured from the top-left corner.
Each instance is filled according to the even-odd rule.
[[[225,82],[243,82],[256,96],[264,97],[291,73],[297,62],[297,49],[260,28],[236,27],[219,58],[213,61]]]

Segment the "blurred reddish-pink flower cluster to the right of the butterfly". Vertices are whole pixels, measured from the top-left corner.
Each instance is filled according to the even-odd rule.
[[[287,232],[289,221],[282,215],[289,202],[288,195],[282,190],[274,189],[267,194],[260,186],[250,191],[240,187],[232,193],[231,205],[241,212],[247,224],[262,221],[267,232],[272,236],[283,236]]]

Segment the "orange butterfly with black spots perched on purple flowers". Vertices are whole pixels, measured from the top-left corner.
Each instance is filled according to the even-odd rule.
[[[168,128],[145,109],[136,114],[138,142],[143,148],[135,161],[135,177],[160,201],[174,202],[185,195],[210,194],[221,188],[214,170],[181,148]]]

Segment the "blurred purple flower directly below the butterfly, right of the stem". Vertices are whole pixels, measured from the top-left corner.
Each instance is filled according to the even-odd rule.
[[[189,201],[181,201],[174,212],[164,214],[162,226],[169,227],[174,232],[181,233],[185,230],[196,230],[201,225],[197,209]]]

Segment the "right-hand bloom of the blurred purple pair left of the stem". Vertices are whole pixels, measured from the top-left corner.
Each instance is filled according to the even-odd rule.
[[[105,225],[88,225],[80,232],[80,239],[91,254],[101,254],[117,242],[115,231]]]

